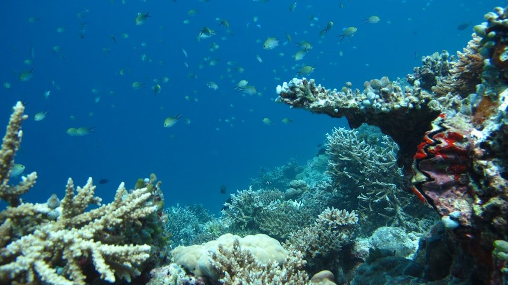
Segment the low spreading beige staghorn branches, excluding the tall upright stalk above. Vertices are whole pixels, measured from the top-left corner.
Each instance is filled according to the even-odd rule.
[[[155,206],[145,205],[151,194],[146,188],[127,194],[121,183],[112,203],[85,212],[83,205],[97,200],[93,188],[89,178],[71,200],[67,197],[74,194],[74,185],[69,179],[62,215],[0,249],[0,281],[35,284],[40,279],[50,284],[85,284],[80,261],[87,259],[93,261],[101,278],[109,282],[116,280],[115,274],[128,281],[139,275],[136,266],[149,257],[150,245],[105,244],[94,236],[123,220],[135,220],[154,212]],[[68,206],[81,210],[66,209]],[[33,205],[33,208],[42,207]],[[63,267],[63,274],[57,273],[57,267]]]

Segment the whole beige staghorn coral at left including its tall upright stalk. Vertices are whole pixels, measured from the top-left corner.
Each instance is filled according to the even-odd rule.
[[[10,206],[0,212],[0,283],[7,284],[86,284],[85,265],[93,263],[100,278],[130,281],[140,274],[138,266],[150,257],[147,244],[108,244],[110,232],[140,219],[157,209],[148,201],[147,188],[128,193],[121,183],[108,205],[99,204],[91,178],[78,187],[69,179],[61,203],[55,197],[44,204],[22,203],[19,196],[35,184],[37,174],[23,177],[18,185],[8,185],[14,154],[21,141],[23,106],[17,103],[0,150],[0,198]],[[116,275],[116,276],[115,276]]]

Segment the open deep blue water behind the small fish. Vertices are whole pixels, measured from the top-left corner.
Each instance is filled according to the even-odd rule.
[[[37,171],[39,176],[23,198],[44,202],[52,193],[62,198],[68,177],[83,185],[91,176],[96,184],[102,178],[110,180],[98,184],[96,191],[109,202],[121,181],[132,188],[138,178],[154,172],[163,181],[168,206],[203,203],[212,212],[229,197],[219,193],[221,184],[231,193],[248,188],[249,178],[256,177],[260,167],[280,166],[291,157],[305,164],[327,132],[347,125],[345,119],[274,103],[275,87],[295,77],[300,65],[316,65],[308,77],[327,88],[340,89],[351,81],[361,89],[366,80],[404,78],[420,65],[422,55],[461,50],[472,26],[482,22],[493,7],[506,5],[505,1],[472,0],[298,0],[290,13],[292,1],[279,0],[264,4],[247,0],[41,3],[9,1],[3,4],[0,19],[0,81],[11,83],[10,89],[0,89],[0,119],[7,123],[16,101],[28,102],[25,111],[30,117],[23,123],[16,163],[26,166],[25,174]],[[199,12],[191,17],[187,15],[190,9]],[[136,25],[137,13],[147,12],[146,22]],[[310,15],[316,20],[309,21]],[[364,24],[362,20],[371,15],[381,21]],[[30,17],[39,20],[30,23]],[[233,35],[217,25],[217,17],[228,20]],[[319,32],[329,21],[334,27],[322,39]],[[458,30],[457,25],[465,22],[472,25]],[[203,26],[218,30],[218,35],[196,41]],[[357,34],[339,42],[337,35],[347,26],[356,26]],[[66,30],[58,33],[58,27]],[[286,41],[284,32],[293,42],[263,49],[268,37]],[[302,40],[313,48],[303,60],[295,61],[291,57],[298,51],[294,43]],[[213,42],[219,48],[210,51]],[[54,53],[54,46],[63,50]],[[143,54],[152,57],[152,62],[143,61]],[[219,58],[219,62],[210,66],[205,57]],[[26,59],[33,60],[33,66],[26,65]],[[227,68],[233,68],[228,61],[245,72],[228,72]],[[299,66],[292,69],[295,64]],[[33,78],[20,82],[19,73],[32,67]],[[124,75],[119,74],[122,69]],[[187,77],[192,72],[197,79]],[[162,77],[169,82],[160,83],[162,91],[154,96],[150,86],[155,85],[153,79]],[[233,87],[242,79],[262,96],[236,92]],[[132,88],[135,81],[146,88]],[[207,88],[206,81],[216,82],[218,90]],[[47,90],[51,94],[45,99]],[[189,102],[185,96],[198,101]],[[35,121],[34,115],[45,110],[47,117]],[[179,113],[190,124],[182,119],[171,128],[163,127],[165,118]],[[275,123],[264,124],[265,117]],[[286,117],[294,123],[283,124]],[[94,132],[80,137],[66,133],[81,126],[94,127]]]

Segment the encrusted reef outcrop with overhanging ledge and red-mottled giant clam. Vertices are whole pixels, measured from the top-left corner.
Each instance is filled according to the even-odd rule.
[[[497,284],[493,241],[508,236],[508,13],[497,7],[485,20],[457,56],[426,56],[405,82],[383,77],[363,90],[331,90],[294,78],[277,92],[292,107],[390,135],[405,189],[439,213],[455,260],[473,261],[467,274],[478,284]]]

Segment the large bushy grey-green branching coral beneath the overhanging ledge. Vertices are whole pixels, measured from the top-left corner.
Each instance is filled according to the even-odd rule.
[[[402,190],[402,171],[395,158],[398,146],[393,140],[366,125],[356,130],[335,129],[327,137],[327,174],[332,186],[346,196],[334,204],[358,209],[364,234],[385,225],[424,230],[410,216],[424,218],[414,206],[417,199]]]

